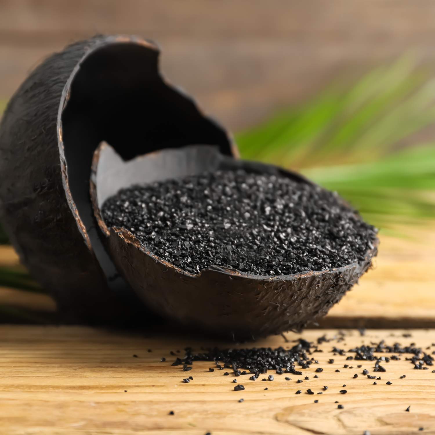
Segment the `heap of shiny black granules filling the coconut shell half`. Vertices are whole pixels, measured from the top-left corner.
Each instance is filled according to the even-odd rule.
[[[337,194],[242,170],[132,186],[102,214],[194,274],[211,265],[256,275],[337,268],[362,260],[376,238]]]

